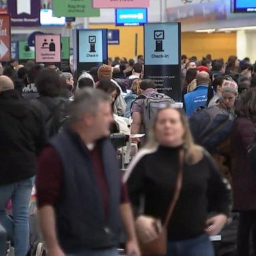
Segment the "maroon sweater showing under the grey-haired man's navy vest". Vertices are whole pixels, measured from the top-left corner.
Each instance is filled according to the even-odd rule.
[[[105,213],[107,213],[108,205],[108,189],[107,181],[104,175],[103,162],[99,147],[95,147],[89,151],[95,175],[97,177],[97,185],[101,192]],[[37,167],[37,204],[41,208],[44,205],[55,205],[59,200],[61,186],[63,183],[61,159],[53,147],[48,146],[43,149],[39,157]],[[128,203],[127,188],[124,183],[121,183],[121,203]]]

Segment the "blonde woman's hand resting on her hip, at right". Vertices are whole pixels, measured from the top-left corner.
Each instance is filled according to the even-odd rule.
[[[227,216],[224,214],[216,215],[215,217],[212,217],[211,219],[208,219],[206,222],[207,228],[205,229],[205,232],[208,235],[217,235],[223,229],[225,224],[227,223]]]

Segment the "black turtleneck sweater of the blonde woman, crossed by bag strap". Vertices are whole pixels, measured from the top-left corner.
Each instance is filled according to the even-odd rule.
[[[179,149],[160,146],[144,155],[127,181],[129,197],[135,209],[145,198],[143,214],[165,221],[177,180]],[[208,155],[195,165],[185,164],[181,194],[168,226],[169,240],[202,235],[209,213],[229,215],[231,187],[218,173]]]

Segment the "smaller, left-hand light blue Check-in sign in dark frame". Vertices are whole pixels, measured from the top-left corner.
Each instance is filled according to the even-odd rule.
[[[75,69],[89,71],[107,63],[107,29],[73,31]]]

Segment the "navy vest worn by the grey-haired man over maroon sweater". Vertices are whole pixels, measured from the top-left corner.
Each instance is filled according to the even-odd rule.
[[[55,209],[61,247],[67,253],[117,247],[121,228],[118,185],[121,174],[109,139],[99,142],[109,191],[107,216],[92,163],[80,137],[67,129],[53,137],[49,145],[57,151],[63,167],[61,198]]]

